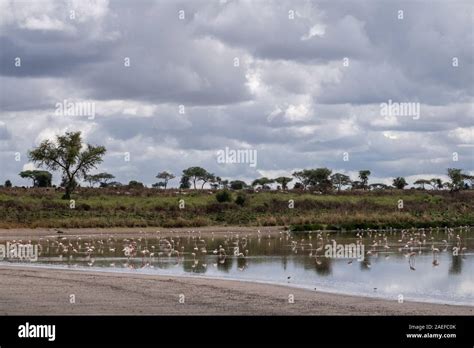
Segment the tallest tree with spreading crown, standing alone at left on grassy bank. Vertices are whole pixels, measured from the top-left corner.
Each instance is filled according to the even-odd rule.
[[[106,149],[104,146],[84,145],[81,132],[66,132],[57,135],[56,141],[44,140],[28,153],[31,161],[50,170],[62,171],[66,192],[63,199],[70,199],[76,179],[84,178],[91,169],[102,162]]]

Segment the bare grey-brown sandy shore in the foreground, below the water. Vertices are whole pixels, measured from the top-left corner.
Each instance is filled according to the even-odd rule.
[[[191,277],[0,266],[0,279],[2,315],[474,315],[468,306],[400,304]],[[75,304],[69,302],[71,294]],[[294,303],[288,302],[289,294]]]

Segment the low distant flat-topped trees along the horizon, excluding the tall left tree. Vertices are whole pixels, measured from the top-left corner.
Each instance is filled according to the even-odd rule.
[[[52,174],[48,171],[27,170],[19,173],[19,175],[22,178],[31,179],[32,187],[53,187],[51,184]],[[274,179],[261,177],[259,179],[255,179],[251,183],[246,183],[243,180],[224,180],[221,177],[208,172],[204,168],[190,167],[183,170],[180,176],[178,188],[204,189],[204,186],[208,184],[209,187],[214,190],[271,190],[271,185],[276,184],[277,186],[274,187],[275,189],[288,190],[290,188],[289,184],[294,182],[292,187],[293,189],[327,193],[341,190],[404,189],[409,185],[404,177],[397,177],[393,179],[392,185],[386,185],[383,183],[369,184],[370,175],[370,170],[361,170],[359,171],[358,180],[351,180],[348,175],[342,173],[333,174],[328,168],[316,168],[296,171],[292,174],[292,177],[281,176]],[[474,186],[474,176],[464,174],[461,169],[449,168],[447,170],[447,175],[450,178],[450,181],[448,182],[443,182],[440,178],[418,179],[413,182],[413,185],[422,190],[427,188],[432,190],[462,190],[472,189]],[[98,174],[86,174],[83,179],[84,182],[89,184],[89,187],[146,187],[143,183],[136,180],[132,180],[128,184],[122,184],[118,181],[112,181],[114,178],[114,175],[104,172]],[[152,184],[151,187],[167,189],[169,181],[175,179],[176,176],[167,171],[163,171],[158,173],[156,178],[160,180]],[[60,187],[65,187],[66,185],[67,181],[63,179]],[[7,180],[4,186],[11,187],[12,185],[10,180]],[[74,187],[80,187],[80,185],[75,182]]]

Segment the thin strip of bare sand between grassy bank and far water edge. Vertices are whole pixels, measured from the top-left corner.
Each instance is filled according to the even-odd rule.
[[[62,233],[58,233],[58,231]],[[158,232],[159,231],[159,232]],[[103,236],[119,236],[123,238],[144,235],[186,235],[188,233],[200,233],[202,236],[211,234],[241,233],[256,234],[278,233],[284,231],[283,226],[271,227],[243,227],[243,226],[207,226],[207,227],[184,227],[184,228],[161,228],[161,227],[111,227],[111,228],[0,228],[0,240],[19,238],[41,238],[46,236],[90,236],[101,238]]]

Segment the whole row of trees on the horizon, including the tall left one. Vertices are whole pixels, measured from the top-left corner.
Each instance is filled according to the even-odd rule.
[[[83,146],[80,132],[68,132],[65,135],[56,137],[56,141],[45,140],[37,148],[28,153],[29,159],[52,171],[61,172],[61,184],[65,190],[64,198],[69,199],[71,193],[79,187],[78,181],[84,181],[90,187],[120,187],[144,188],[145,185],[139,181],[132,180],[123,185],[113,181],[115,176],[102,172],[91,174],[93,169],[102,162],[102,157],[106,149],[103,146]],[[19,173],[22,178],[32,180],[33,187],[51,187],[52,174],[46,170],[27,170]],[[360,170],[358,180],[351,180],[348,175],[333,173],[328,168],[304,169],[295,171],[291,177],[280,176],[277,178],[261,177],[251,183],[242,180],[227,180],[210,173],[202,167],[190,167],[184,169],[179,181],[180,189],[204,189],[207,184],[212,189],[255,189],[271,190],[276,184],[277,190],[288,190],[289,184],[293,184],[293,189],[309,190],[312,192],[328,193],[341,190],[374,190],[374,189],[404,189],[409,183],[404,177],[393,179],[392,185],[383,183],[369,184],[370,170]],[[420,189],[431,188],[433,190],[458,191],[472,189],[474,187],[474,176],[462,172],[462,169],[448,168],[448,182],[443,182],[440,178],[418,179],[413,185]],[[162,171],[156,175],[159,179],[152,185],[153,188],[168,188],[170,180],[176,178],[173,173]],[[5,182],[5,187],[12,187],[10,180]]]

